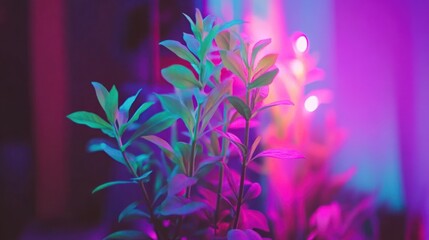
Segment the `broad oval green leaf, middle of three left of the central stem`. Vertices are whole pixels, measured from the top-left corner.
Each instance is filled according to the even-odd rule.
[[[167,82],[179,89],[202,87],[201,83],[197,81],[192,71],[183,65],[171,65],[162,69],[161,74]]]

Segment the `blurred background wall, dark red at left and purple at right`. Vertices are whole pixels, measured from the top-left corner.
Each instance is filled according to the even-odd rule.
[[[427,1],[2,0],[1,239],[106,217],[113,203],[90,192],[116,174],[114,165],[86,153],[96,134],[65,116],[99,110],[91,81],[123,95],[162,88],[155,70],[172,60],[154,42],[180,39],[189,31],[181,12],[196,7],[248,20],[249,36],[271,37],[280,54],[290,51],[282,41],[305,33],[347,132],[331,171],[356,167],[350,186],[377,196],[381,224],[395,226],[397,239],[423,229],[428,236]]]

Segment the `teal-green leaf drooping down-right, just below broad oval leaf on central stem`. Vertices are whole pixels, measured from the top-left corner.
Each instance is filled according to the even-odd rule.
[[[191,111],[183,105],[180,99],[175,95],[171,94],[156,94],[163,109],[171,114],[174,114],[181,118],[188,128],[189,132],[192,132],[195,126],[195,118],[192,115]]]

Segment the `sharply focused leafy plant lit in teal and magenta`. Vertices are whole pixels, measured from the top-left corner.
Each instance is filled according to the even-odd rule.
[[[260,150],[261,137],[251,134],[258,113],[292,104],[263,103],[278,73],[276,54],[259,56],[271,41],[250,48],[231,30],[242,21],[215,24],[213,16],[203,18],[198,10],[195,21],[185,17],[192,30],[183,34],[186,45],[160,43],[188,63],[162,70],[175,91],[155,94],[160,112],[141,121],[154,102],[130,114],[140,91],[119,105],[115,86],[108,91],[94,82],[106,119],[84,111],[68,116],[107,135],[92,141],[89,150],[104,151],[130,173],[129,179],[104,183],[93,193],[123,184],[138,185],[142,192],[143,200],[125,207],[118,220],[142,219],[152,227],[106,239],[261,239],[270,229],[265,215],[247,204],[262,191],[247,177],[248,167],[258,158],[302,157],[288,149]],[[169,138],[160,134],[164,130],[170,130]]]

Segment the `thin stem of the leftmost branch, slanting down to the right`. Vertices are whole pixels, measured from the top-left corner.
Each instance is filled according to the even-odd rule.
[[[118,136],[116,140],[118,142],[118,146],[119,146],[119,149],[121,151],[122,157],[124,158],[125,163],[127,164],[128,170],[130,171],[130,173],[135,178],[139,177],[137,171],[131,165],[131,161],[128,159],[127,155],[125,154],[125,150],[123,149],[123,144],[122,144],[121,137]],[[144,185],[144,182],[143,181],[139,181],[139,186],[140,186],[140,189],[143,192],[144,200],[145,200],[147,209],[149,210],[150,220],[153,223],[157,239],[160,239],[160,240],[162,240],[162,239],[168,239],[165,236],[165,231],[163,231],[163,227],[162,227],[161,223],[155,217],[154,209],[153,209],[153,206],[152,206],[152,201],[150,200],[150,197],[149,197],[148,191],[146,189],[146,186]]]

